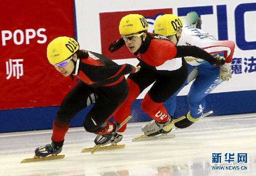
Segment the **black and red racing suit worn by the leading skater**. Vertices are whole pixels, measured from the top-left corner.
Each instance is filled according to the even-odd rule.
[[[70,120],[94,102],[84,120],[85,130],[95,134],[111,133],[115,126],[106,120],[127,98],[128,85],[124,75],[134,73],[135,67],[117,65],[101,54],[84,52],[88,57],[74,62],[74,75],[80,81],[62,101],[53,123],[52,141],[55,144],[63,144]]]

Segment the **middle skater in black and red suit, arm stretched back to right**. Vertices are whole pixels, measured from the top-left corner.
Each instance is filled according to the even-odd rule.
[[[182,21],[174,21],[177,29],[182,28]],[[153,120],[142,127],[149,135],[160,134],[165,126],[173,121],[162,105],[183,85],[187,78],[188,67],[185,56],[193,56],[206,60],[211,65],[224,64],[195,46],[176,46],[168,38],[147,32],[147,20],[138,14],[123,17],[119,24],[121,39],[109,45],[109,51],[114,52],[126,45],[138,59],[141,69],[127,78],[129,94],[125,103],[115,113],[114,121],[122,122],[130,115],[132,102],[153,84],[141,103],[141,109]],[[124,132],[124,125],[118,132]]]

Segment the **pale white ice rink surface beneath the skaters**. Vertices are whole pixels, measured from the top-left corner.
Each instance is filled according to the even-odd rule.
[[[144,124],[128,124],[120,142],[124,149],[93,155],[80,152],[94,146],[95,135],[71,128],[61,153],[65,158],[32,163],[20,162],[50,143],[52,130],[2,133],[0,176],[256,176],[256,114],[204,117],[172,132],[175,138],[132,142]],[[221,153],[221,163],[213,163],[213,153]],[[238,162],[241,153],[247,154],[244,162]]]

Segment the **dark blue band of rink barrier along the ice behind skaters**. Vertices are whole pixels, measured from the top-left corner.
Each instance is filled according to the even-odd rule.
[[[131,122],[151,120],[141,111],[141,99],[132,103]],[[59,106],[10,109],[0,111],[0,133],[21,132],[42,129],[52,129],[52,124]],[[71,120],[71,127],[83,126],[83,120],[90,107],[82,110]],[[213,110],[212,116],[247,114],[256,112],[256,91],[236,91],[209,94],[206,97],[204,112]],[[177,116],[182,116],[189,111],[186,96],[177,97]]]

